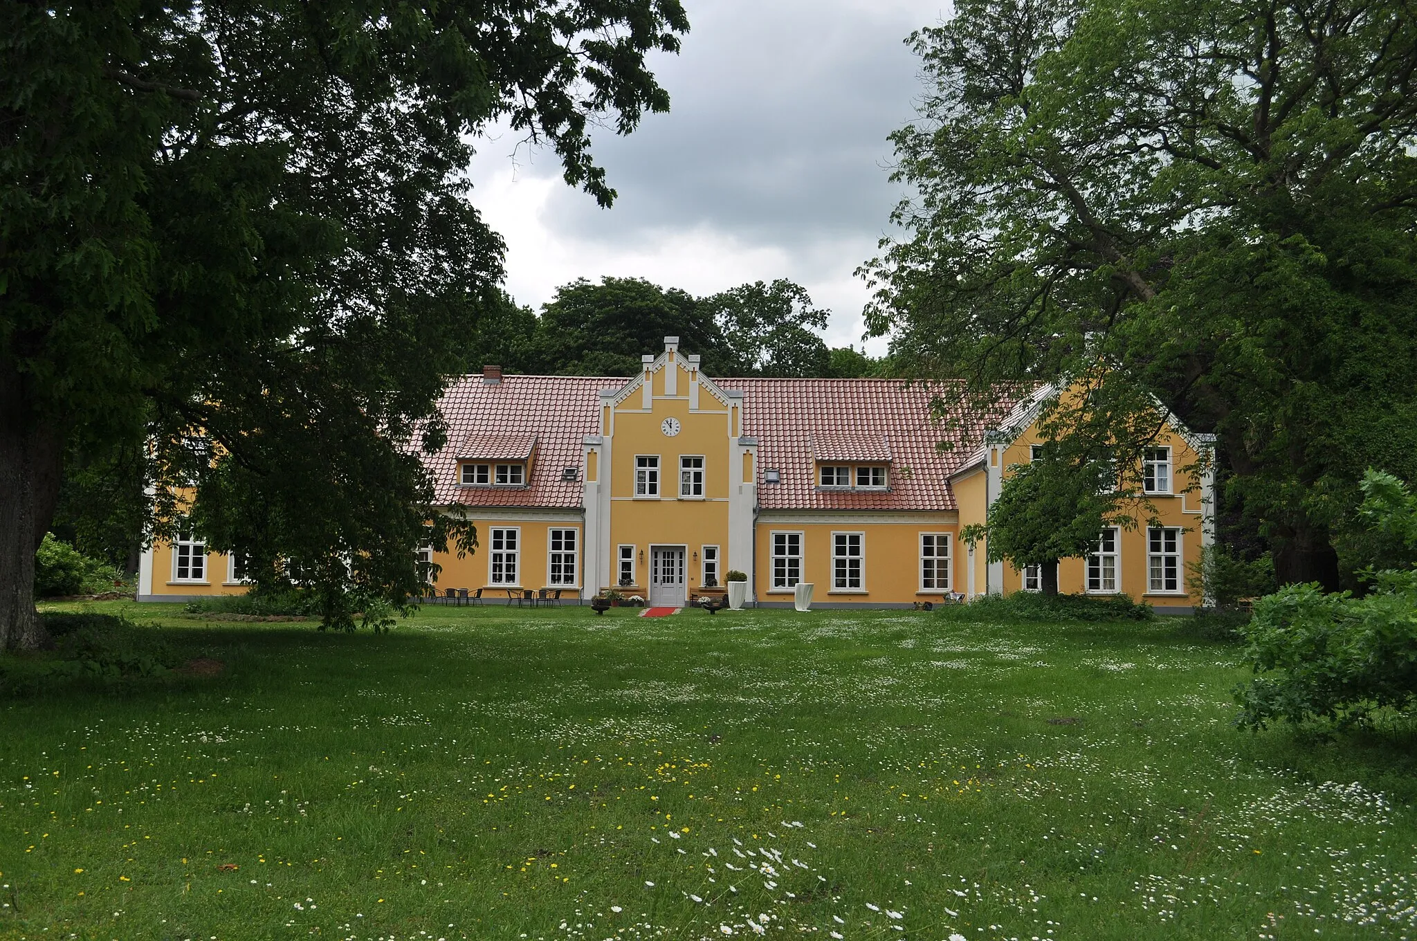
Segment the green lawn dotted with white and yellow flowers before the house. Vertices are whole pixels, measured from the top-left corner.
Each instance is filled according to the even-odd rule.
[[[1178,621],[95,608],[227,670],[0,700],[0,937],[1417,937],[1414,740]]]

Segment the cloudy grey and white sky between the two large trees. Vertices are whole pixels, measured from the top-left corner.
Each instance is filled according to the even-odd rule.
[[[652,68],[670,113],[595,156],[619,198],[571,190],[550,152],[479,143],[473,203],[507,241],[507,291],[540,308],[575,278],[648,278],[696,295],[791,278],[862,344],[866,288],[900,190],[886,136],[914,116],[903,40],[947,16],[924,0],[686,0],[691,31]],[[514,153],[514,157],[513,157]],[[873,340],[873,353],[884,343]]]

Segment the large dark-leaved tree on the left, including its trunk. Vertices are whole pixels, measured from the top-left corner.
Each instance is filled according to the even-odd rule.
[[[476,135],[609,204],[588,128],[667,108],[645,55],[684,30],[677,0],[0,0],[0,648],[41,639],[75,449],[150,442],[159,529],[327,597],[398,599],[417,546],[470,544],[417,451],[500,303]]]

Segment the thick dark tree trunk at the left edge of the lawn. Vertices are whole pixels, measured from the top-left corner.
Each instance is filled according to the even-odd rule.
[[[34,553],[60,499],[58,429],[34,419],[26,380],[0,359],[0,650],[45,642],[34,609]]]

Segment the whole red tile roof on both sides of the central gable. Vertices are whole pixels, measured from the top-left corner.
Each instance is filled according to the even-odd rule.
[[[629,380],[582,376],[506,376],[487,385],[482,376],[455,380],[442,398],[448,441],[425,456],[436,502],[465,506],[580,507],[581,439],[599,434],[599,391]],[[724,390],[743,393],[744,434],[758,439],[758,503],[768,510],[954,510],[948,476],[983,438],[999,414],[969,415],[945,427],[931,414],[938,387],[873,378],[726,378]],[[462,488],[456,459],[493,442],[524,445],[536,439],[536,459],[524,488]],[[945,441],[947,446],[937,445]],[[466,442],[475,442],[468,445]],[[519,446],[520,446],[519,445]],[[816,451],[813,451],[816,449]],[[888,490],[819,490],[816,458],[890,461]],[[492,455],[486,455],[492,459]],[[510,459],[510,458],[509,458]],[[777,469],[781,483],[764,483]]]

